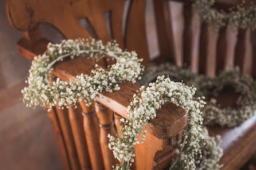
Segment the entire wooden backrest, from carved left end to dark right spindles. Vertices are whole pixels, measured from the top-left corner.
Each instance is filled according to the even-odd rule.
[[[219,70],[240,66],[243,74],[256,77],[255,32],[224,27],[212,30],[208,23],[200,23],[199,17],[190,1],[183,2],[184,28],[181,48],[174,48],[173,21],[170,1],[153,0],[156,19],[160,58],[176,65],[189,66],[192,72],[213,77]],[[230,7],[240,1],[218,1]],[[126,6],[125,6],[126,4]],[[88,38],[93,36],[110,41],[116,39],[122,48],[135,50],[148,64],[149,52],[146,38],[145,10],[146,0],[62,0],[33,1],[6,0],[7,16],[11,25],[24,32],[30,42],[42,38],[38,23],[46,22],[56,27],[65,38]],[[110,30],[103,17],[110,12]],[[92,31],[84,29],[78,19],[86,18]],[[108,21],[107,21],[108,22]],[[230,31],[233,30],[233,31]],[[91,34],[90,34],[91,33]],[[175,55],[180,50],[181,56]],[[254,55],[253,55],[254,54]],[[182,64],[179,63],[182,61]]]

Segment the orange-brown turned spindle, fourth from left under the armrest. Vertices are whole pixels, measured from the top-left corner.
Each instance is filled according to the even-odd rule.
[[[91,167],[94,170],[104,169],[102,151],[99,142],[99,121],[94,107],[88,107],[80,101],[83,114],[84,134],[86,135],[88,152],[90,153]]]

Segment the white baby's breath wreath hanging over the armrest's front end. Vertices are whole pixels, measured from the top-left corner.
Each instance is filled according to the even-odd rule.
[[[134,100],[127,108],[129,112],[127,120],[121,119],[124,123],[120,127],[121,137],[115,138],[108,135],[110,139],[108,147],[113,150],[114,156],[119,161],[123,161],[121,165],[115,165],[115,169],[129,169],[131,165],[129,161],[134,161],[135,144],[143,143],[145,140],[147,122],[156,117],[156,110],[167,101],[181,106],[188,113],[188,125],[185,128],[183,140],[179,144],[180,149],[176,149],[176,153],[179,154],[170,169],[195,169],[196,167],[218,169],[219,165],[216,162],[219,161],[222,151],[218,147],[219,141],[212,140],[208,133],[204,133],[200,109],[203,108],[205,102],[200,97],[194,98],[195,92],[196,88],[181,82],[170,81],[170,78],[165,78],[165,76],[157,77],[156,82],[150,83],[146,90],[142,86],[138,94],[134,94]],[[142,139],[137,138],[140,133],[142,133]],[[202,152],[201,148],[205,144],[205,139],[212,141],[208,143],[208,147],[216,148],[216,152],[211,152],[211,149]],[[200,161],[201,158],[205,160]],[[209,159],[210,161],[207,161]]]

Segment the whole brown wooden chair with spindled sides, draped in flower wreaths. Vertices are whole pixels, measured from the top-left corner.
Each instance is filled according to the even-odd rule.
[[[42,35],[39,25],[41,22],[46,22],[56,27],[65,38],[95,36],[104,42],[110,41],[111,38],[116,39],[122,48],[135,50],[138,56],[144,59],[143,64],[147,65],[152,61],[149,59],[146,40],[146,0],[127,2],[121,0],[6,0],[6,13],[10,24],[23,32],[24,37],[17,42],[17,46],[22,56],[29,60],[43,53],[50,42]],[[160,56],[155,61],[169,61],[175,64],[177,58],[174,50],[177,49],[174,49],[169,2],[164,0],[153,2],[160,46]],[[245,37],[245,35],[250,34],[249,31],[239,30],[235,59],[227,60],[229,52],[226,46],[229,41],[226,37],[226,28],[220,30],[214,37],[209,31],[209,25],[203,23],[196,27],[193,24],[195,14],[193,14],[191,3],[182,2],[184,2],[182,58],[184,63],[191,66],[193,72],[215,76],[218,70],[230,65],[226,61],[234,61],[235,65],[241,66],[245,74],[250,73],[251,68],[255,68],[255,60],[250,62],[250,57],[243,57],[248,51],[246,43],[249,36]],[[234,5],[238,2],[218,1],[220,6]],[[127,13],[125,3],[128,5]],[[107,12],[110,12],[109,32],[102,15]],[[84,29],[77,20],[80,18],[87,18],[92,27],[91,31]],[[122,29],[123,25],[125,29]],[[252,41],[251,45],[256,49],[255,42]],[[256,54],[255,51],[254,54]],[[100,64],[106,63],[101,61]],[[91,61],[77,57],[56,64],[53,74],[61,80],[75,80],[77,74],[90,73],[93,66]],[[255,77],[256,70],[253,72]],[[121,90],[118,92],[100,93],[96,99],[96,105],[98,105],[96,110],[80,102],[78,109],[61,110],[56,106],[48,113],[66,169],[111,169],[111,165],[117,163],[107,148],[107,133],[114,134],[115,126],[119,126],[118,120],[121,117],[127,117],[126,107],[130,104],[135,90],[139,89],[139,86],[131,82],[120,86]],[[222,98],[234,102],[230,96],[223,95]],[[147,126],[149,131],[145,143],[135,147],[137,157],[135,157],[133,169],[167,167],[174,154],[173,147],[180,139],[186,123],[187,114],[180,107],[167,103],[158,110],[157,118],[150,121]],[[212,135],[222,135],[224,155],[220,163],[224,165],[223,169],[241,168],[256,152],[256,116],[236,128],[210,127],[210,132]]]

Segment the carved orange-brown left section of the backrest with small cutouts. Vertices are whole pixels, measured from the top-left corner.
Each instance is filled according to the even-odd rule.
[[[6,0],[6,13],[13,27],[23,31],[24,37],[30,42],[42,38],[40,23],[54,26],[65,38],[89,38],[92,34],[79,22],[86,18],[96,38],[104,42],[111,38],[117,40],[122,48],[135,50],[144,58],[144,64],[149,61],[148,46],[145,32],[146,1],[131,1],[126,6],[124,0]],[[126,2],[127,3],[127,2]],[[110,32],[103,17],[110,13]],[[123,29],[123,25],[125,29]]]

